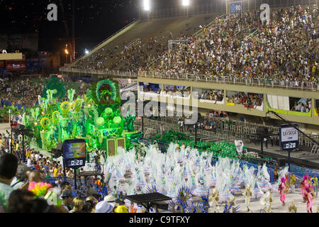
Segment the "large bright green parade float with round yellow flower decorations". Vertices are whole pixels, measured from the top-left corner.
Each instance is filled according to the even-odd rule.
[[[65,140],[80,138],[86,140],[87,152],[99,149],[107,157],[117,155],[118,147],[130,149],[138,143],[142,133],[135,131],[136,116],[128,111],[123,118],[116,82],[102,80],[84,96],[74,99],[74,94],[74,89],[66,92],[60,80],[52,78],[39,105],[26,111],[23,124],[34,130],[30,142],[36,148],[50,152]]]

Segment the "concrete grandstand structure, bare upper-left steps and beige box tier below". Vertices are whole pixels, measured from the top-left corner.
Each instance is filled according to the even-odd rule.
[[[295,3],[296,5],[300,4],[300,2],[296,1],[287,2],[289,5],[294,5]],[[304,4],[308,4],[308,2],[305,2]],[[272,79],[247,79],[218,75],[207,77],[204,74],[186,73],[181,75],[150,70],[150,66],[161,64],[158,60],[159,57],[167,51],[168,41],[178,39],[181,31],[184,35],[203,37],[204,29],[210,28],[216,18],[223,18],[225,16],[225,13],[211,13],[191,16],[189,18],[152,18],[149,20],[134,21],[116,35],[113,35],[101,45],[98,45],[94,50],[91,50],[89,55],[84,55],[69,65],[69,67],[60,70],[71,76],[86,75],[108,78],[138,78],[139,86],[143,86],[143,84],[157,84],[157,87],[159,88],[159,93],[152,95],[147,95],[147,93],[150,92],[143,92],[139,89],[138,99],[152,100],[155,98],[155,100],[165,103],[172,102],[177,104],[180,99],[178,96],[169,97],[167,94],[160,94],[160,92],[164,91],[166,86],[188,87],[191,89],[191,95],[188,97],[189,105],[192,106],[194,103],[197,103],[198,111],[201,114],[206,114],[209,110],[226,111],[228,113],[233,113],[228,115],[228,118],[233,120],[240,120],[240,118],[242,118],[247,122],[259,123],[261,125],[275,124],[276,126],[279,126],[282,121],[272,114],[267,115],[268,111],[275,111],[286,118],[286,120],[299,123],[300,128],[306,133],[319,133],[318,82],[302,82],[301,84],[296,85],[289,83],[282,84],[279,80]],[[186,31],[186,28],[189,27],[191,28]],[[244,31],[245,29],[242,29],[240,32],[236,33],[239,40],[259,33],[258,29],[252,28],[250,28],[248,32]],[[125,49],[125,45],[126,48],[128,48],[128,46],[134,47],[135,45],[140,45],[139,42],[142,44],[147,43],[150,38],[155,36],[164,37],[162,40],[160,40],[160,38],[158,40],[164,48],[161,49],[160,52],[157,52],[155,49],[148,51],[147,55],[149,55],[150,59],[147,61],[147,64],[131,68],[130,70],[122,70],[123,65],[130,64],[129,60],[122,60],[114,66],[114,63],[118,62],[118,59],[114,56],[116,56],[116,53],[122,52]],[[114,50],[112,53],[113,57],[109,57],[109,55],[106,54],[106,49]],[[140,49],[143,49],[143,47]],[[136,51],[138,50],[131,50],[131,52]],[[178,51],[178,49],[175,49],[174,51]],[[100,57],[106,57],[106,60],[102,64],[103,66],[101,66],[101,64],[96,66],[96,62],[99,62],[99,60],[96,60],[95,57],[99,54],[101,55]],[[83,66],[81,62],[84,61],[91,61],[92,64],[89,64],[90,67],[87,67],[87,65]],[[196,96],[194,96],[194,91],[198,92],[198,89],[222,90],[225,94],[224,100],[216,103],[213,101],[197,99]],[[262,105],[252,106],[249,104],[235,104],[230,101],[230,97],[239,92],[245,94],[259,94],[262,96]],[[305,102],[304,99],[310,103],[309,109],[304,112],[294,111],[292,108],[293,103]],[[272,118],[272,121],[267,121],[268,117]]]

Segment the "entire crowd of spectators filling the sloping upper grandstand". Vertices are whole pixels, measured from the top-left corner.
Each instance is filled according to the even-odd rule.
[[[98,50],[79,60],[81,70],[139,70],[207,79],[263,79],[289,87],[318,86],[318,7],[291,6],[272,11],[233,13],[203,27],[203,35],[180,34],[177,48],[167,50],[159,35],[123,50]],[[248,31],[248,32],[247,32]],[[249,35],[252,33],[253,35]],[[172,38],[169,38],[172,39]],[[176,39],[176,38],[175,38]],[[158,60],[159,59],[159,60]],[[108,62],[108,63],[106,63]]]

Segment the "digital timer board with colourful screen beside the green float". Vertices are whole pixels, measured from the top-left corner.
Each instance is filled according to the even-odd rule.
[[[77,170],[85,166],[86,141],[82,139],[65,140],[63,143],[63,158],[65,167]]]

